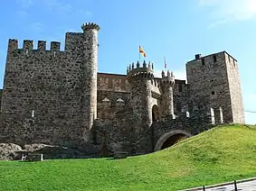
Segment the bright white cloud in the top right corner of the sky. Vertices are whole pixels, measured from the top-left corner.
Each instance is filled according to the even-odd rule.
[[[200,0],[199,7],[210,9],[214,22],[208,28],[217,25],[245,21],[256,16],[256,0]]]

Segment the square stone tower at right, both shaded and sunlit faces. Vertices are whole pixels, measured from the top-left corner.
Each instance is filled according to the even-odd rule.
[[[226,51],[195,55],[186,63],[186,76],[193,108],[222,107],[224,123],[245,123],[237,60]]]

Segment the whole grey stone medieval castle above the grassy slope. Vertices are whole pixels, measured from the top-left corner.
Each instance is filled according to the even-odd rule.
[[[221,123],[244,123],[237,60],[226,51],[186,63],[187,83],[153,63],[127,75],[98,72],[96,23],[52,41],[8,42],[1,90],[0,142],[82,148],[89,155],[162,150]]]

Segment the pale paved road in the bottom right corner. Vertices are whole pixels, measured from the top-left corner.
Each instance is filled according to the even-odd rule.
[[[234,191],[234,185],[206,188],[205,190],[206,191]],[[239,191],[256,191],[256,180],[237,183],[237,190],[239,190]]]

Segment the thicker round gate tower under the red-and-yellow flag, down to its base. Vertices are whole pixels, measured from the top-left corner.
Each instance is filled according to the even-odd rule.
[[[134,136],[137,138],[135,148],[137,153],[143,153],[148,149],[149,127],[152,123],[151,80],[154,79],[154,70],[151,64],[143,62],[142,68],[134,63],[128,67],[128,82],[130,84],[131,106],[133,108]]]

